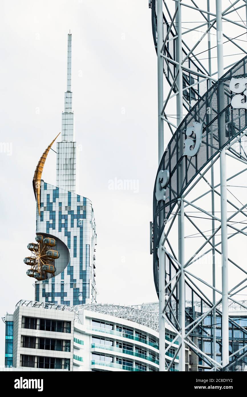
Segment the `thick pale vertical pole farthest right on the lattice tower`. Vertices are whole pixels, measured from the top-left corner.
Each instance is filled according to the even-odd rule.
[[[217,64],[218,79],[224,74],[222,2],[216,0]],[[221,96],[219,86],[218,97]],[[218,99],[219,100],[219,99]],[[221,104],[219,103],[219,110]],[[225,135],[225,115],[219,119],[220,137]],[[221,212],[221,263],[222,263],[222,364],[229,362],[229,318],[228,318],[228,239],[227,239],[227,191],[226,191],[226,150],[220,152],[220,212]]]

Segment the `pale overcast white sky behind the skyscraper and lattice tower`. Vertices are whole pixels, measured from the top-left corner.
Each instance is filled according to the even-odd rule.
[[[168,3],[173,10],[174,2]],[[225,9],[230,2],[222,4]],[[183,29],[195,26],[191,21],[196,25],[203,21],[190,9],[183,12]],[[96,218],[98,303],[157,301],[149,254],[158,166],[157,55],[148,1],[3,0],[0,141],[12,145],[12,155],[0,153],[1,315],[13,313],[20,299],[34,299],[23,263],[36,230],[32,180],[42,152],[61,131],[69,29],[75,134],[82,145],[77,193],[92,200]],[[230,33],[234,37],[242,31],[236,28]],[[207,41],[200,45],[196,53],[206,48]],[[240,50],[233,52],[227,45],[226,65],[243,57]],[[246,48],[246,41],[239,45]],[[201,54],[205,65],[206,57],[207,53]],[[215,58],[213,66],[215,70]],[[165,94],[168,89],[165,85]],[[174,115],[174,109],[168,105],[167,113]],[[165,145],[170,139],[167,131],[165,125]],[[56,185],[52,151],[42,178]],[[109,190],[114,178],[134,181],[138,192]],[[2,323],[0,365],[4,365],[4,332]]]

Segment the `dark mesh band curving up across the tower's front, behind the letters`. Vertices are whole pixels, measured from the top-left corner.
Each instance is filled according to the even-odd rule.
[[[168,219],[174,209],[177,199],[193,181],[195,176],[219,153],[228,142],[234,139],[247,127],[246,109],[232,109],[229,98],[232,93],[229,83],[232,77],[239,77],[239,73],[246,69],[247,57],[230,69],[203,98],[190,110],[176,133],[172,136],[168,147],[159,164],[159,170],[170,171],[170,181],[166,193],[166,201],[157,202],[155,198],[156,180],[153,193],[153,265],[157,267],[157,246],[164,229],[164,220]],[[241,65],[240,65],[241,64]],[[245,74],[241,77],[245,77]],[[220,100],[219,100],[220,98]],[[209,110],[210,109],[210,110]],[[185,131],[193,121],[203,122],[203,140],[196,156],[183,155]],[[218,128],[219,123],[222,127]],[[223,132],[219,133],[219,130]],[[244,140],[245,141],[245,140]],[[239,146],[236,145],[239,152]],[[156,271],[155,271],[156,274]],[[158,284],[155,280],[156,289]]]

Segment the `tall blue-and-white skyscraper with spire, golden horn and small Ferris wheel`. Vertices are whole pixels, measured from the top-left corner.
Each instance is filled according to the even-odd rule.
[[[96,302],[94,252],[97,237],[94,211],[88,198],[75,193],[77,145],[72,111],[71,38],[69,34],[67,91],[62,113],[61,142],[57,143],[57,186],[41,179],[53,141],[41,156],[34,173],[36,235],[41,237],[36,236],[34,248],[32,244],[29,245],[32,256],[25,258],[25,263],[31,265],[27,274],[37,280],[35,300],[65,305]],[[44,245],[45,238],[55,239],[56,246]],[[47,259],[49,248],[50,258]]]

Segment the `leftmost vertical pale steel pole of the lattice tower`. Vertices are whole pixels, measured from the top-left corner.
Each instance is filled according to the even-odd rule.
[[[157,0],[157,60],[158,60],[158,151],[159,163],[164,153],[164,123],[161,118],[163,109],[163,0]],[[163,238],[161,237],[161,241]],[[165,371],[165,251],[159,246],[159,370]]]

